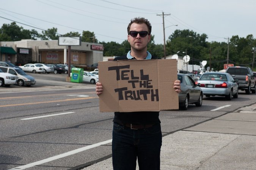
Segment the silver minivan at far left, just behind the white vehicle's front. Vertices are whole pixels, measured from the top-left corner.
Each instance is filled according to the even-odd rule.
[[[18,69],[16,67],[5,67],[0,66],[0,69],[5,73],[10,73],[12,75],[17,76],[16,83],[19,86],[31,86],[36,84],[36,80],[34,77],[27,75],[22,69]]]

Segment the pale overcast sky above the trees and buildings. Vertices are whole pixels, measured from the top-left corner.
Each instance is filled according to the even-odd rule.
[[[16,21],[39,33],[42,30],[36,28],[55,27],[59,34],[85,30],[101,42],[123,42],[130,19],[145,17],[152,24],[155,44],[163,44],[163,19],[157,16],[162,12],[170,14],[164,18],[166,40],[176,29],[205,33],[208,42],[227,42],[225,38],[234,35],[256,37],[256,0],[0,0],[0,4],[0,27]]]

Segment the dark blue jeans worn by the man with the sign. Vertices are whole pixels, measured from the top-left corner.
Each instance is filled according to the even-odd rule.
[[[161,146],[160,123],[137,130],[114,123],[113,170],[136,170],[137,158],[140,170],[160,170]]]

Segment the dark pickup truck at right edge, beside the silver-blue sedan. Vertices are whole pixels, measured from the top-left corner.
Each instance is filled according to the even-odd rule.
[[[226,73],[239,81],[237,82],[240,90],[245,90],[246,94],[256,93],[255,76],[250,67],[228,67]]]

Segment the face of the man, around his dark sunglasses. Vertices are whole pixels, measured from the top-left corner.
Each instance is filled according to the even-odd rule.
[[[138,24],[138,23],[132,23],[130,27],[130,31],[148,31],[148,27],[145,23]],[[147,35],[146,37],[141,37],[140,34],[137,34],[136,37],[132,37],[131,35],[128,35],[128,42],[130,43],[130,46],[133,50],[143,50],[144,48],[147,48],[147,45],[151,39],[151,35]]]

